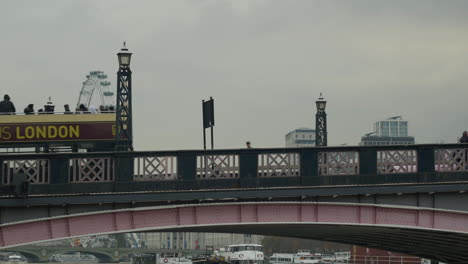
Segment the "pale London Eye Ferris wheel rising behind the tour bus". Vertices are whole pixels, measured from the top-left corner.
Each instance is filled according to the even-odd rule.
[[[79,108],[83,104],[87,108],[101,105],[107,110],[114,108],[115,93],[110,85],[103,71],[91,71],[86,75],[86,81],[83,82],[76,107]]]

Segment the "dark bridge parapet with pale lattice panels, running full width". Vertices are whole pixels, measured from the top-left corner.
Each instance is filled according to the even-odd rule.
[[[135,192],[468,181],[460,144],[1,155],[2,193]]]

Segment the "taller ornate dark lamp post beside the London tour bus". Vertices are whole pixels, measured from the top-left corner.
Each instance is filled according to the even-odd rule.
[[[119,71],[117,72],[115,150],[128,151],[133,150],[132,71],[130,71],[132,53],[125,47],[125,42],[117,57]]]

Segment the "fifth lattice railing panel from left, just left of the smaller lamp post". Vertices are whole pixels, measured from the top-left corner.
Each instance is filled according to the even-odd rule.
[[[258,155],[259,177],[300,176],[299,153],[266,153]]]

